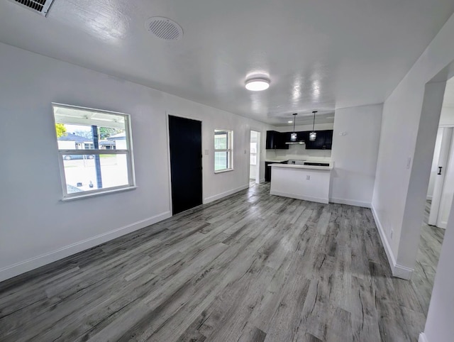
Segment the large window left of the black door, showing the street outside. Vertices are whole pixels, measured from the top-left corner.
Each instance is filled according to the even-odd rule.
[[[135,187],[128,114],[52,104],[63,199]]]

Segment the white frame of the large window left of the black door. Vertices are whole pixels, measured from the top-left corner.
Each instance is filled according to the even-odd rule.
[[[68,149],[68,150],[60,150],[58,148],[58,138],[55,134],[55,144],[57,145],[57,153],[58,153],[58,163],[60,165],[60,180],[62,184],[62,201],[67,201],[71,199],[80,199],[85,197],[93,197],[99,196],[101,194],[109,194],[112,192],[123,192],[131,189],[136,189],[135,185],[135,171],[134,171],[134,158],[133,158],[133,142],[132,142],[132,130],[131,130],[131,115],[126,113],[121,113],[118,111],[106,111],[104,109],[94,109],[89,107],[82,107],[82,106],[72,106],[70,104],[60,104],[56,102],[52,102],[52,117],[54,120],[54,127],[57,121],[55,120],[55,107],[63,107],[68,109],[80,109],[85,111],[96,111],[98,113],[104,114],[113,114],[116,116],[123,116],[125,122],[125,140],[126,140],[126,149],[123,150],[104,150],[101,148],[96,149],[85,149],[85,148],[75,148],[75,149]],[[60,122],[58,122],[60,123]],[[65,123],[64,123],[65,124]],[[66,123],[66,124],[76,124],[76,123]],[[88,126],[88,125],[86,125]],[[96,126],[96,125],[93,125]],[[102,126],[101,126],[102,127]],[[54,129],[55,131],[55,129]],[[117,187],[108,187],[105,189],[93,189],[87,190],[83,192],[75,192],[68,194],[67,192],[67,182],[66,182],[66,175],[65,175],[65,160],[63,159],[63,155],[126,155],[126,167],[128,172],[128,184],[125,185],[118,185]],[[84,158],[85,159],[85,158]]]

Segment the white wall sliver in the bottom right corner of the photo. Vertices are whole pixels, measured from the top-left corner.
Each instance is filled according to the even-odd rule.
[[[454,212],[454,207],[451,207]],[[454,215],[450,216],[438,260],[424,333],[427,342],[451,342],[454,336]],[[423,340],[424,341],[424,340]]]

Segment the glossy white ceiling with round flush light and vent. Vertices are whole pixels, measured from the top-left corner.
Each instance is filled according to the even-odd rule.
[[[0,41],[287,125],[384,101],[453,11],[453,0],[55,0],[44,18],[0,1]],[[184,37],[156,38],[150,16]],[[255,74],[270,89],[247,91]]]

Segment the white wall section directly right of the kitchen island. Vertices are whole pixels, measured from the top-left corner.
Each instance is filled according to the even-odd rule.
[[[382,104],[336,109],[331,202],[370,207],[381,121]]]

